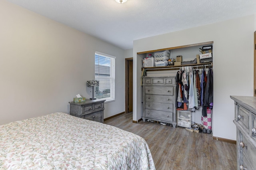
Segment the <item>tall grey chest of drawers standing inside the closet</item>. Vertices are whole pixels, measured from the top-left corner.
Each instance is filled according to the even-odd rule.
[[[142,77],[143,117],[176,127],[175,77]]]

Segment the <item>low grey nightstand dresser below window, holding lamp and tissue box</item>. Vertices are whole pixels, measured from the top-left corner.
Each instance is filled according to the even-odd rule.
[[[103,123],[105,101],[102,99],[87,99],[85,102],[70,102],[70,115]]]

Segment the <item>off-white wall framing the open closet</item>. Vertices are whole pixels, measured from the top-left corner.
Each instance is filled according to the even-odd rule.
[[[230,95],[253,96],[254,15],[134,41],[133,120],[142,117],[139,80],[141,59],[137,52],[214,41],[213,136],[236,140],[234,101]]]

